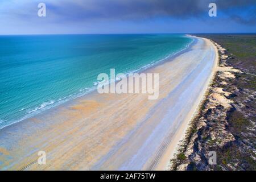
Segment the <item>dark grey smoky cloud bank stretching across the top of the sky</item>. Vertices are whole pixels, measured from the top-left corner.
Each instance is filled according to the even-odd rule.
[[[151,18],[205,18],[210,2],[217,4],[218,12],[239,23],[254,24],[255,0],[89,0],[48,2],[48,10],[65,20]],[[247,11],[247,12],[246,12]],[[219,15],[219,14],[218,14]]]

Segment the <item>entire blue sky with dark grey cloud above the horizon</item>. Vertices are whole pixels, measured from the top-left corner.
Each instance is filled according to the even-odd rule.
[[[208,15],[212,2],[216,17]],[[0,0],[0,35],[249,32],[256,0]]]

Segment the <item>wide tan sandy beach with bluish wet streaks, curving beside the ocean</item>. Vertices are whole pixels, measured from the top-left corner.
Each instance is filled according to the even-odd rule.
[[[217,48],[195,38],[147,69],[159,98],[92,92],[0,130],[0,169],[164,170],[216,72]],[[38,164],[46,152],[46,165]]]

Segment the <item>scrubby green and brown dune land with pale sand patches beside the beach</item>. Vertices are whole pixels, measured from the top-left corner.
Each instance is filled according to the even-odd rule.
[[[256,35],[197,36],[219,46],[219,70],[170,169],[256,170]],[[209,151],[217,164],[209,164]]]

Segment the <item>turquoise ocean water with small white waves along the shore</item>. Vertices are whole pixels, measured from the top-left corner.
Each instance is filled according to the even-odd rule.
[[[0,129],[138,72],[185,49],[185,35],[0,36]]]

